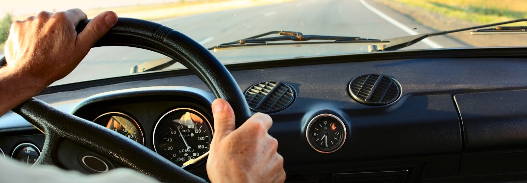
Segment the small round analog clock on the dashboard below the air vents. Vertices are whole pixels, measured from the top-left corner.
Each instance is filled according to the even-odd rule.
[[[309,122],[306,130],[307,142],[320,153],[338,150],[346,139],[346,126],[332,114],[317,115]]]

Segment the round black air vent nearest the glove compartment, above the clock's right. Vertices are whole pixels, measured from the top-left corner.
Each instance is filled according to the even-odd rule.
[[[401,95],[401,87],[392,78],[380,74],[364,74],[349,82],[348,92],[359,103],[386,105]]]

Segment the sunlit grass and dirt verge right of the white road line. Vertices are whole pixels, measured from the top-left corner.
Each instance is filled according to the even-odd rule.
[[[524,0],[373,0],[412,17],[437,31],[527,18]],[[527,26],[527,22],[503,26]],[[447,35],[474,47],[527,46],[527,35],[470,35],[468,31]]]

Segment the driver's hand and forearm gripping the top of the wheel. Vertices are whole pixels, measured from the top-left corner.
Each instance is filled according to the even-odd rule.
[[[85,19],[82,10],[70,9],[13,23],[4,49],[7,64],[0,69],[0,115],[73,71],[117,15],[101,13],[77,34],[75,26]]]

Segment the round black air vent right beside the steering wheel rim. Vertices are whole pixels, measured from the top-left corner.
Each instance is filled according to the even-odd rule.
[[[286,83],[266,81],[252,85],[245,92],[251,110],[274,113],[286,109],[295,99],[294,90]]]

